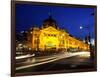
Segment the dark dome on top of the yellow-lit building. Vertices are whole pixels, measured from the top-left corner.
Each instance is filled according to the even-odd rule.
[[[45,19],[45,20],[43,21],[43,28],[47,28],[47,27],[49,27],[49,26],[52,26],[52,27],[57,28],[57,26],[56,26],[56,21],[55,21],[51,16],[49,16],[48,19]]]

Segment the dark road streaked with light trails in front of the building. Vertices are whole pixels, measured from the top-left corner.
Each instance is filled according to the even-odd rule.
[[[16,60],[16,72],[67,70],[93,67],[89,52],[59,53]]]

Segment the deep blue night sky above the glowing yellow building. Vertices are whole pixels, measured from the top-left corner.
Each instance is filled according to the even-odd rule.
[[[94,10],[95,8],[16,4],[16,31],[28,30],[34,25],[41,27],[50,13],[58,27],[67,30],[71,35],[83,39],[90,31],[93,38],[95,18],[91,14]],[[80,26],[83,26],[82,30]],[[90,28],[86,28],[88,26]]]

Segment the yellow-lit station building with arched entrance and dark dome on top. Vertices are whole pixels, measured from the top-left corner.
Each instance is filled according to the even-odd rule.
[[[44,20],[42,28],[34,27],[32,31],[32,48],[34,50],[67,50],[77,48],[88,50],[89,45],[70,36],[66,31],[59,29],[55,20],[50,16]]]

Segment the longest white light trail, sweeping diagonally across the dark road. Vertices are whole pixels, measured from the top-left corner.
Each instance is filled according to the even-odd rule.
[[[34,64],[31,64],[31,65],[26,65],[26,66],[20,66],[20,67],[17,67],[16,70],[29,68],[29,67],[33,67],[33,66],[38,66],[38,65],[54,62],[54,61],[57,61],[57,60],[60,60],[60,59],[63,59],[63,58],[69,58],[69,57],[77,56],[77,55],[90,55],[90,52],[85,51],[85,52],[70,53],[70,55],[68,53],[64,53],[62,55],[55,55],[55,57],[51,58],[50,60],[46,60],[46,61],[42,61],[42,62],[39,62],[39,63],[34,63]]]

